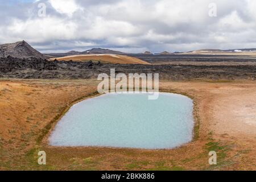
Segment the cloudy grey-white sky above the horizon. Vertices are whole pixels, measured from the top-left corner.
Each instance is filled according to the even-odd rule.
[[[256,48],[255,0],[0,0],[0,18],[0,44],[44,53]]]

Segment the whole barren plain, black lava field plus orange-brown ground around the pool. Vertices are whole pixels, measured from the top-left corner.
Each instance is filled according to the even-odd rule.
[[[0,169],[255,170],[256,67],[251,57],[136,55],[152,65],[0,60]],[[174,150],[52,147],[48,137],[78,101],[97,96],[98,73],[159,73],[160,91],[195,102],[191,143]],[[47,165],[39,166],[38,151]],[[217,152],[217,165],[208,163]]]

